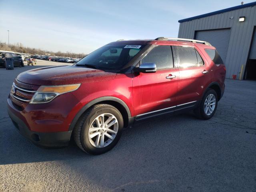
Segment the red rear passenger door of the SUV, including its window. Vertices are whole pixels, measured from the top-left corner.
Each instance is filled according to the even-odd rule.
[[[180,72],[176,110],[193,107],[212,78],[210,66],[196,46],[174,46]]]

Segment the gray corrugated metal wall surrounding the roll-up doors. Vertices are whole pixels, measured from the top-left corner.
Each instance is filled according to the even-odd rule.
[[[230,19],[231,16],[234,18]],[[245,22],[238,22],[240,16],[246,16]],[[244,65],[244,68],[246,66],[254,26],[256,26],[256,6],[180,23],[178,37],[193,39],[197,30],[231,28],[225,60],[226,78],[232,78],[233,74],[239,78],[241,66]],[[242,77],[243,75],[244,70]]]

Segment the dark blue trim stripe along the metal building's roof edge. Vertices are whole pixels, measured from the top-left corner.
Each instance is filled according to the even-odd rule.
[[[212,15],[216,15],[216,14],[220,14],[220,13],[224,13],[224,12],[228,12],[228,11],[233,11],[233,10],[236,10],[236,9],[242,9],[242,8],[246,8],[246,7],[250,7],[250,6],[254,6],[254,5],[256,5],[256,1],[252,2],[252,3],[238,5],[238,6],[222,9],[222,10],[219,10],[219,11],[214,11],[214,12],[210,12],[210,13],[206,13],[206,14],[202,14],[202,15],[198,15],[198,16],[178,20],[178,22],[183,23],[183,22],[186,22],[186,21],[191,21],[191,20],[194,20],[194,19],[200,19],[200,18],[203,18],[203,17],[212,16]]]

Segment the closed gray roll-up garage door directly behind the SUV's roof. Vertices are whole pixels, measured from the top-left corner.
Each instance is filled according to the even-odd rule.
[[[196,40],[207,41],[216,48],[225,63],[230,29],[196,31]]]

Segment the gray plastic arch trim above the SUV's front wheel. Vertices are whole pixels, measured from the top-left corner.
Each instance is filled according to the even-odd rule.
[[[76,114],[76,116],[74,117],[74,119],[72,120],[68,130],[71,131],[74,129],[75,125],[76,125],[76,122],[78,121],[78,119],[80,118],[80,116],[88,109],[90,108],[91,106],[93,106],[94,104],[96,103],[99,103],[99,102],[104,102],[104,101],[114,101],[114,102],[118,102],[119,104],[121,104],[127,114],[128,114],[128,118],[131,117],[131,112],[130,112],[130,109],[128,108],[128,106],[126,105],[126,103],[119,99],[119,98],[116,98],[116,97],[112,97],[112,96],[104,96],[104,97],[99,97],[99,98],[96,98],[92,101],[90,101],[89,103],[87,103],[85,106],[83,106],[80,111]]]

